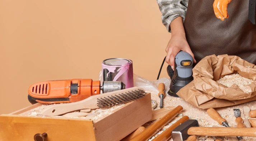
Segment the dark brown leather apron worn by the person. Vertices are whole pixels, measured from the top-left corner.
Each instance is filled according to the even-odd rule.
[[[256,65],[256,25],[248,19],[249,0],[233,0],[229,18],[215,17],[214,0],[189,0],[184,28],[199,62],[208,55],[236,55]]]

